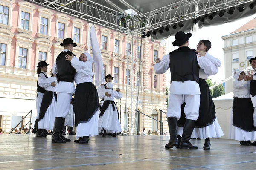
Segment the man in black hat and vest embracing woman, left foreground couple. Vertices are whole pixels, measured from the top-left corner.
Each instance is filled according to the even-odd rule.
[[[52,142],[66,143],[71,141],[63,136],[65,117],[68,114],[70,108],[70,101],[72,94],[75,93],[74,76],[76,70],[71,66],[71,62],[66,60],[65,55],[73,55],[73,47],[76,44],[73,43],[71,38],[66,38],[63,43],[60,44],[64,47],[64,50],[57,56],[56,62],[52,67],[52,73],[57,74],[58,85],[56,92],[58,92],[56,117],[53,127]]]

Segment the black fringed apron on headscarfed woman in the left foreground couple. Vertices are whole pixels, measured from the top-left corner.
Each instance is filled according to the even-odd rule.
[[[76,86],[75,101],[75,125],[87,123],[98,112],[99,96],[96,87],[91,82],[80,83]]]

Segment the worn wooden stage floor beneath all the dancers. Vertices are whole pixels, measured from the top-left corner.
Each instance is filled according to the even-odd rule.
[[[51,136],[0,135],[0,170],[255,170],[256,147],[239,141],[191,140],[198,150],[164,149],[168,136],[91,137],[89,144],[54,144]]]

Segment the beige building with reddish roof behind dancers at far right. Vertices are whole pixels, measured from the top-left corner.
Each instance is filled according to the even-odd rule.
[[[226,79],[239,70],[250,67],[250,58],[256,56],[256,18],[231,32],[230,35],[223,36],[222,39],[224,40]],[[253,73],[253,69],[247,72]],[[233,81],[233,79],[226,81],[226,94],[233,91]]]

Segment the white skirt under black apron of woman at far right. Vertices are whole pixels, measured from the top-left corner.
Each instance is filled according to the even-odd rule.
[[[233,110],[231,109],[229,138],[237,141],[254,141],[256,131],[247,132],[239,127],[233,126]]]

